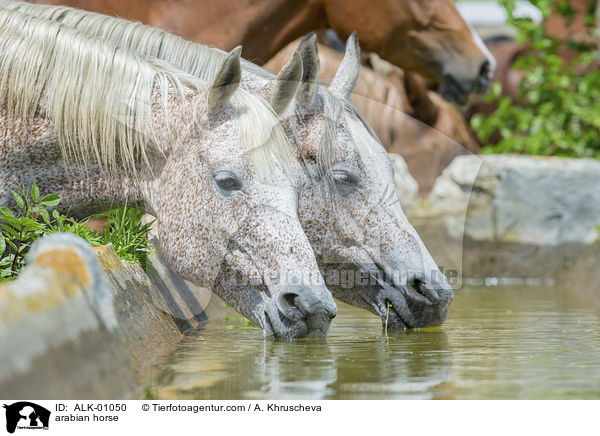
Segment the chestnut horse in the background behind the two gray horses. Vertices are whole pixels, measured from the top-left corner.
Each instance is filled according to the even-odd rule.
[[[453,0],[34,0],[139,20],[186,39],[266,62],[294,39],[331,28],[356,31],[362,48],[441,84],[442,96],[464,104],[483,93],[496,62],[460,16]]]

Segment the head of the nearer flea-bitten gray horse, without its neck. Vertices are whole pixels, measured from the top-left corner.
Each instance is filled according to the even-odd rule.
[[[288,72],[300,69],[297,61]],[[267,335],[321,337],[336,306],[298,221],[298,164],[273,111],[238,89],[240,75],[236,49],[189,103],[194,127],[153,182],[161,246],[180,276]],[[276,86],[272,101],[289,102],[295,83]]]

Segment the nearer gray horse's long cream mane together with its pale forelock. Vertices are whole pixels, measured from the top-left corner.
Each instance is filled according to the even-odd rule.
[[[15,4],[20,3],[3,0],[0,7]],[[142,58],[80,29],[23,12],[0,9],[1,108],[9,120],[24,124],[36,115],[50,119],[65,159],[84,164],[93,159],[109,170],[135,172],[140,159],[146,160],[148,143],[156,140],[153,111],[169,120],[174,99],[208,89],[206,81],[164,59]],[[273,164],[291,168],[294,158],[272,110],[239,89],[232,105],[241,151],[251,152],[255,167],[264,173]],[[161,140],[182,140],[181,132],[170,130],[166,138],[161,132]]]

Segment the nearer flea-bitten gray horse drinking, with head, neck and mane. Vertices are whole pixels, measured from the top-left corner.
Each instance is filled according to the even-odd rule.
[[[336,307],[298,222],[297,161],[272,110],[238,89],[239,50],[221,64],[209,85],[0,9],[0,205],[36,181],[81,213],[140,207],[179,275],[267,335],[324,336]]]

